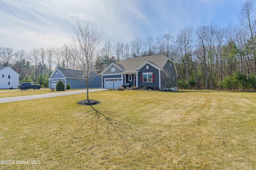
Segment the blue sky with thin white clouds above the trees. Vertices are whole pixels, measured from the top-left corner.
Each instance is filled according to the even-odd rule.
[[[0,0],[0,47],[61,47],[76,18],[104,29],[110,43],[173,35],[184,26],[238,24],[246,0]]]

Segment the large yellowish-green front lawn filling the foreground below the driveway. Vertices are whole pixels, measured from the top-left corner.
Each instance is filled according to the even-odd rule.
[[[90,93],[0,104],[0,169],[256,169],[256,93]]]

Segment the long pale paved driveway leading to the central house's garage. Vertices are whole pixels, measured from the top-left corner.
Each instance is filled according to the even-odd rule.
[[[89,89],[89,92],[99,92],[108,89]],[[22,100],[32,100],[32,99],[41,99],[41,98],[52,98],[58,96],[67,96],[72,94],[82,94],[86,93],[86,90],[76,90],[76,91],[69,91],[69,92],[58,92],[58,93],[46,93],[46,94],[35,94],[35,95],[28,95],[28,96],[17,96],[17,97],[9,97],[9,98],[0,98],[0,103],[7,103],[7,102],[17,102]]]

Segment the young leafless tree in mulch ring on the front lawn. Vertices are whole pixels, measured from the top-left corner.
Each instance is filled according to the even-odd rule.
[[[94,24],[90,25],[89,19],[87,21],[80,21],[78,18],[76,24],[74,32],[72,32],[70,37],[70,46],[73,50],[71,55],[74,61],[76,61],[78,69],[83,72],[86,78],[87,100],[89,101],[88,80],[91,76],[94,53],[98,44],[105,37],[105,34],[104,29],[98,29]]]

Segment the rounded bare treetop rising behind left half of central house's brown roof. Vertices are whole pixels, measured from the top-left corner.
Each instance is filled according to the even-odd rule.
[[[131,41],[131,55],[133,57],[141,57],[144,49],[144,42],[141,38],[137,37]]]

